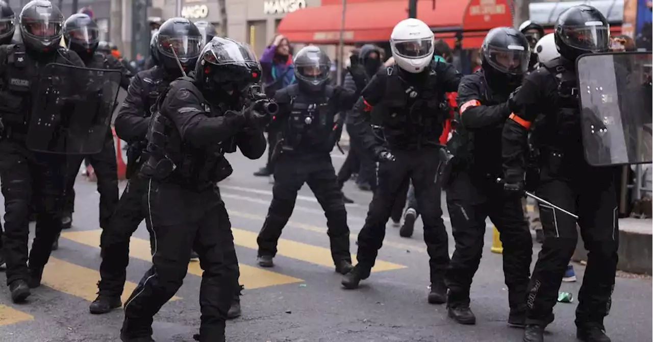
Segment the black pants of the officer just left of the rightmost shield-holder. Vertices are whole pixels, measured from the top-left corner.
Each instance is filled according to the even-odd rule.
[[[460,170],[452,175],[447,187],[447,210],[456,242],[445,277],[451,290],[450,301],[470,303],[471,281],[483,256],[485,219],[489,216],[501,234],[510,309],[523,314],[533,241],[520,198],[505,195],[503,186],[487,175]]]

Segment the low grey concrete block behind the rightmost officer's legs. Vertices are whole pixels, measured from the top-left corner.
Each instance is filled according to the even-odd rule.
[[[618,254],[620,271],[653,275],[653,220],[620,218]],[[573,260],[587,260],[580,234]]]

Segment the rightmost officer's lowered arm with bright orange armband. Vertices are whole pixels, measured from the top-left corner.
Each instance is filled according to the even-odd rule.
[[[529,75],[515,96],[515,112],[511,113],[503,126],[502,158],[505,181],[517,183],[524,180],[525,154],[528,150],[528,130],[535,121],[537,114],[545,105],[541,88]],[[533,78],[535,79],[535,78]]]

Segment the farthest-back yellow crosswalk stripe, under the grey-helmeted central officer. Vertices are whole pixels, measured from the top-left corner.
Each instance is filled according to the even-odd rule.
[[[232,231],[236,245],[253,249],[259,248],[256,242],[257,233],[237,228],[232,228]],[[310,262],[311,264],[334,267],[329,248],[317,247],[286,239],[279,239],[277,248],[277,254],[280,256]],[[356,260],[355,255],[352,255],[351,258],[352,260]],[[405,267],[404,265],[377,260],[372,271],[389,271],[390,269],[401,269]]]

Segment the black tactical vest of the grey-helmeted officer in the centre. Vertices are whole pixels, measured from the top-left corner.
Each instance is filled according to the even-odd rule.
[[[293,152],[331,152],[340,137],[342,122],[336,122],[334,88],[327,86],[321,96],[300,92],[298,84],[287,88],[291,113],[283,129],[284,150]]]

